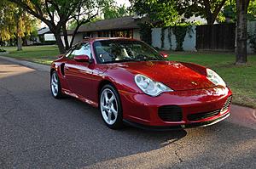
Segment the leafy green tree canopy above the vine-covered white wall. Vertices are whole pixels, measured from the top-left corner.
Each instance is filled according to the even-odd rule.
[[[137,14],[148,14],[153,20],[159,20],[163,25],[172,25],[179,16],[190,18],[201,16],[213,25],[220,10],[227,0],[131,0]]]

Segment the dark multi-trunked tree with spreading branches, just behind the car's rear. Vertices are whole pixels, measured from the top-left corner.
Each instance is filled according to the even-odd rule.
[[[89,22],[96,16],[97,9],[102,0],[9,0],[23,8],[27,13],[42,20],[49,26],[54,34],[60,54],[64,54],[70,45],[67,41],[67,22],[77,20],[79,26]],[[61,41],[61,31],[65,40],[65,46]],[[73,37],[75,36],[75,31]]]

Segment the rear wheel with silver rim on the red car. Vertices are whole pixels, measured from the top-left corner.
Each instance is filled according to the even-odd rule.
[[[61,93],[61,82],[55,70],[50,75],[50,92],[55,99],[61,99],[63,97]]]

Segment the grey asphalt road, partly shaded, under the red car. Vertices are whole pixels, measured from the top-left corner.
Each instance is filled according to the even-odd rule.
[[[0,168],[256,168],[256,122],[114,131],[90,105],[53,99],[48,72],[0,59]]]

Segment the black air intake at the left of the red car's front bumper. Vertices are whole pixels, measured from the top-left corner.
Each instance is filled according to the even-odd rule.
[[[177,105],[164,105],[158,110],[158,115],[163,121],[182,121],[183,110]]]

